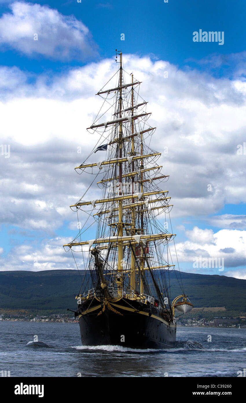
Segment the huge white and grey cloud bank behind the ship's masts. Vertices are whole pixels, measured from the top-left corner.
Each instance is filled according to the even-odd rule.
[[[228,228],[223,230],[227,233],[214,234],[197,226],[187,231],[189,239],[177,247],[179,260],[192,263],[194,256],[202,254],[224,257],[226,267],[242,266],[245,254],[240,239],[245,238],[239,230],[244,229],[245,216],[211,214],[225,203],[246,202],[242,186],[246,157],[236,153],[237,144],[245,141],[246,93],[233,81],[180,71],[163,60],[125,55],[124,66],[143,81],[140,94],[149,102],[147,111],[153,112],[148,122],[158,127],[152,146],[160,152],[168,147],[158,162],[170,174],[163,186],[172,196],[172,216],[203,217],[207,227]],[[59,234],[66,220],[71,230],[78,230],[69,205],[82,196],[91,178],[78,176],[74,166],[100,139],[96,133],[88,135],[85,128],[102,105],[94,94],[115,71],[114,59],[32,80],[17,68],[0,69],[0,135],[2,144],[10,145],[10,158],[0,156],[2,223],[51,237]],[[92,162],[105,158],[105,154],[93,156]],[[93,185],[88,197],[99,198],[99,189]],[[79,218],[82,224],[85,217]]]

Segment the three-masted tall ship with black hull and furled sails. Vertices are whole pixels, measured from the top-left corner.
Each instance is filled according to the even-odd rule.
[[[166,349],[176,341],[175,310],[186,313],[193,305],[170,255],[175,234],[168,224],[168,175],[161,172],[161,153],[150,147],[156,127],[148,124],[140,82],[123,69],[122,52],[116,51],[116,62],[115,75],[96,94],[102,106],[87,129],[97,143],[75,168],[86,190],[70,206],[78,234],[64,245],[75,263],[74,252],[80,253],[76,266],[83,268],[74,312],[84,346]],[[92,156],[99,154],[96,162]],[[83,235],[93,239],[83,240]],[[171,271],[182,291],[173,301]]]

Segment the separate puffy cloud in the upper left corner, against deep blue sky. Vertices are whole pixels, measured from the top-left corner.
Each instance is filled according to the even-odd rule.
[[[28,56],[88,60],[96,54],[89,29],[74,16],[40,4],[16,1],[0,18],[0,44]],[[35,36],[36,35],[36,36]]]

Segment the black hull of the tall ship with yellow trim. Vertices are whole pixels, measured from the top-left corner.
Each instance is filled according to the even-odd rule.
[[[129,301],[129,300],[128,300]],[[120,299],[103,307],[94,299],[90,308],[79,310],[82,345],[121,345],[138,349],[167,349],[174,347],[176,324],[159,316],[159,311],[138,301]],[[89,305],[88,305],[89,306]]]

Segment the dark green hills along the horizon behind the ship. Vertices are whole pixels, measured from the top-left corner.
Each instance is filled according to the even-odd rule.
[[[82,278],[84,271],[80,271]],[[170,273],[172,299],[182,292],[176,275]],[[181,273],[185,293],[195,307],[225,307],[228,311],[246,312],[246,280],[237,278]],[[87,276],[85,276],[85,284]],[[41,272],[0,272],[0,308],[27,310],[76,309],[74,297],[82,280],[77,270]],[[88,284],[90,287],[90,284]]]

